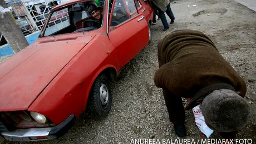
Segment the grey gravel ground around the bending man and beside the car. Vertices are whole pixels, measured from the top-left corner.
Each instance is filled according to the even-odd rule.
[[[112,110],[104,120],[87,111],[74,127],[57,140],[24,143],[131,143],[134,138],[175,139],[173,125],[161,90],[154,85],[157,63],[156,44],[176,29],[202,31],[213,39],[220,53],[247,82],[245,99],[252,108],[248,126],[238,138],[251,138],[256,143],[256,13],[241,4],[223,1],[184,0],[171,4],[176,16],[169,31],[157,21],[151,26],[152,42],[129,62],[112,84]],[[196,6],[193,6],[196,4]],[[188,7],[190,6],[190,7]],[[184,100],[184,104],[186,101]],[[186,130],[195,141],[201,137],[191,111],[186,112]],[[220,138],[213,133],[210,138]],[[0,143],[21,143],[0,140]]]

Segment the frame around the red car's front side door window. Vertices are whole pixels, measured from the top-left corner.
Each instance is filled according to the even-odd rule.
[[[125,0],[121,0],[121,1],[124,3],[126,12],[127,12],[127,14],[129,15],[130,18],[129,18],[129,19],[126,19],[126,21],[124,21],[124,22],[118,24],[117,26],[111,26],[111,25],[110,25],[110,24],[111,24],[111,21],[112,21],[112,16],[113,16],[113,13],[114,13],[115,3],[116,3],[116,0],[114,0],[114,1],[113,1],[113,6],[112,6],[112,8],[111,8],[110,18],[108,19],[108,21],[109,21],[109,24],[108,24],[108,29],[109,29],[109,31],[111,31],[112,29],[118,28],[118,27],[122,26],[123,24],[125,24],[125,23],[131,21],[132,19],[134,19],[134,17],[132,17],[132,14],[130,14],[129,8],[128,8],[127,5],[126,5]],[[135,11],[135,12],[137,12],[137,15],[139,15],[140,13],[139,13],[139,10],[138,10],[138,8],[137,8],[137,6],[136,6],[135,0],[133,0],[133,1],[134,1],[134,4],[135,4],[135,7],[136,7],[136,11]]]

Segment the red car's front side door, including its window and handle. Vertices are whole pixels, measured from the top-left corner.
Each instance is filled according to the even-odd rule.
[[[145,16],[137,12],[134,0],[115,0],[109,19],[109,38],[120,67],[125,66],[149,41]]]

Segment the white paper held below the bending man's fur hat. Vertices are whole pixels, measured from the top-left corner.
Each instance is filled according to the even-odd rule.
[[[195,123],[198,126],[199,130],[204,133],[204,135],[209,138],[213,130],[211,130],[204,121],[204,116],[201,111],[200,105],[192,108],[194,116],[195,116]]]

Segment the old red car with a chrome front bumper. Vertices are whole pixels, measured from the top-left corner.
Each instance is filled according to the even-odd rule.
[[[96,27],[88,24],[99,25],[88,14],[93,2],[53,8],[36,42],[0,64],[0,136],[50,140],[86,108],[102,118],[110,112],[110,82],[149,43],[153,10],[140,0],[107,1]],[[49,26],[58,11],[67,14]]]

